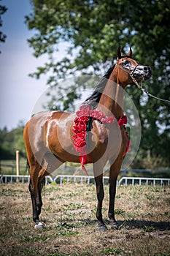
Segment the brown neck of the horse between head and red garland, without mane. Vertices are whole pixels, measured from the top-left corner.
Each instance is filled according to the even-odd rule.
[[[109,78],[103,94],[101,94],[101,99],[98,102],[98,109],[106,116],[110,116],[112,113],[115,118],[118,119],[123,114],[124,90],[117,82],[118,81],[114,76],[112,77],[112,80]]]

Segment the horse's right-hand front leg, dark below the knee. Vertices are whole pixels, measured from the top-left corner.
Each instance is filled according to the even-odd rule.
[[[120,172],[122,162],[115,162],[110,167],[109,173],[109,211],[108,216],[111,220],[111,227],[117,227],[117,221],[115,219],[115,195],[116,195],[116,185],[117,185],[117,176]]]

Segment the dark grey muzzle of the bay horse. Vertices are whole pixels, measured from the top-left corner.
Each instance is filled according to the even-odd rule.
[[[138,79],[147,80],[151,77],[151,75],[152,75],[151,68],[143,65],[138,65],[133,73],[133,76],[134,78],[136,78],[136,80]]]

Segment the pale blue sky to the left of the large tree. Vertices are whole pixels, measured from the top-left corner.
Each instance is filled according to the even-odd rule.
[[[0,28],[7,35],[0,45],[0,128],[13,129],[19,121],[28,121],[37,99],[47,90],[45,76],[40,80],[28,77],[46,57],[36,59],[28,46],[27,39],[33,34],[24,23],[25,15],[31,12],[29,0],[2,0],[0,4],[8,8]],[[64,50],[61,48],[58,59]]]

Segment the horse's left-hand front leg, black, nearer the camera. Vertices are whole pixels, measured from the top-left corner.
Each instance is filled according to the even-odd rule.
[[[103,186],[103,174],[99,176],[95,176],[96,182],[96,193],[97,193],[97,211],[96,211],[96,218],[98,219],[98,230],[106,231],[107,226],[104,224],[103,217],[102,217],[102,202],[104,199],[104,186]]]

